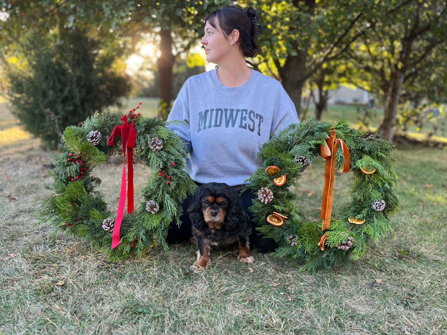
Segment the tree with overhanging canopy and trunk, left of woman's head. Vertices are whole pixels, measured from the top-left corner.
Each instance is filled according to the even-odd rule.
[[[121,45],[127,53],[135,49],[141,34],[155,33],[161,55],[157,61],[159,117],[166,119],[173,98],[172,69],[175,56],[186,52],[202,36],[206,13],[228,4],[228,1],[144,1],[67,0],[13,1],[5,6],[8,19],[0,30],[3,47],[7,48],[26,29],[48,31],[57,26],[97,30],[102,37]],[[127,48],[129,46],[129,48]]]

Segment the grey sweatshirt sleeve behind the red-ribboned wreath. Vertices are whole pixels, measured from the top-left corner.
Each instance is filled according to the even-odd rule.
[[[190,109],[189,109],[189,98],[188,98],[188,81],[183,84],[180,92],[178,93],[177,99],[172,106],[171,112],[169,113],[168,121],[184,121],[186,125],[182,124],[170,124],[168,128],[176,133],[185,144],[188,153],[192,150],[191,145],[191,130],[190,130]]]

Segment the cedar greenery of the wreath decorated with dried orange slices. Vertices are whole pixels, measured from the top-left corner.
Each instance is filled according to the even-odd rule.
[[[355,183],[352,190],[351,202],[341,209],[340,218],[333,216],[330,227],[321,231],[322,222],[312,222],[304,217],[295,207],[295,194],[289,190],[291,184],[301,176],[305,156],[311,161],[320,154],[320,144],[334,128],[337,138],[342,138],[350,152],[350,170],[354,173]],[[393,193],[396,183],[392,159],[392,147],[389,142],[375,138],[349,128],[346,123],[320,122],[315,119],[306,120],[300,124],[291,125],[288,130],[280,132],[267,141],[257,155],[263,167],[258,167],[244,189],[253,192],[268,187],[273,191],[273,200],[264,204],[253,200],[250,210],[255,213],[254,220],[258,223],[259,231],[278,242],[279,247],[274,252],[278,256],[290,256],[303,259],[306,264],[303,270],[315,272],[322,268],[336,267],[341,263],[349,269],[351,260],[358,260],[365,254],[370,239],[376,243],[387,231],[392,231],[389,217],[399,210],[399,201]],[[340,148],[336,154],[336,169],[345,164],[343,151]],[[265,167],[275,165],[280,171],[270,176]],[[376,172],[366,175],[360,167],[368,170],[374,168]],[[286,183],[277,186],[273,178],[285,174]],[[384,200],[386,206],[383,211],[375,211],[372,205],[375,201]],[[268,215],[278,212],[288,217],[283,226],[273,226],[266,222]],[[348,222],[348,218],[364,219],[365,223],[356,225]],[[323,234],[327,235],[325,251],[321,251],[318,242]],[[291,243],[290,236],[297,239]],[[337,248],[340,243],[352,236],[353,245],[348,250]],[[291,245],[293,244],[293,245]]]

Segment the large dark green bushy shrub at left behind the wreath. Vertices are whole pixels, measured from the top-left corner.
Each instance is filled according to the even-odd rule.
[[[70,29],[30,33],[20,42],[27,65],[8,72],[8,95],[13,113],[43,147],[55,148],[67,126],[119,105],[130,92],[128,80],[111,69],[117,53],[99,39]]]

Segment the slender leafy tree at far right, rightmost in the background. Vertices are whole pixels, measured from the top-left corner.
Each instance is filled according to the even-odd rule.
[[[351,60],[363,70],[357,73],[358,78],[385,101],[379,133],[389,142],[393,141],[397,105],[402,102],[405,84],[429,67],[434,49],[446,46],[446,7],[444,1],[406,4],[392,17],[384,17],[350,50]]]

